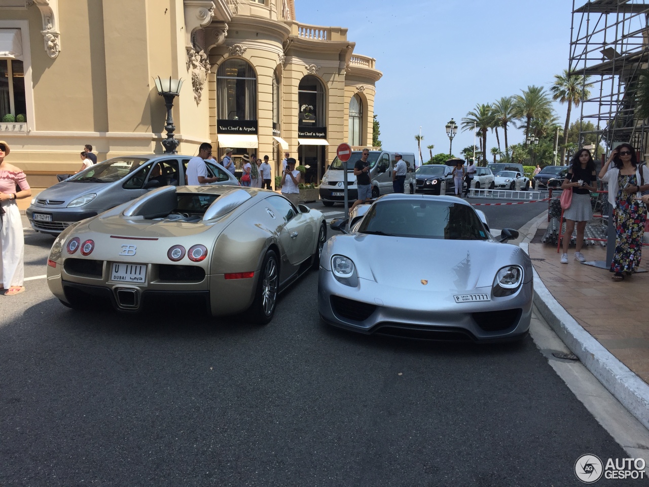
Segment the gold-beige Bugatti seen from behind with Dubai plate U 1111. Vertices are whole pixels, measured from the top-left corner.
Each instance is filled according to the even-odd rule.
[[[317,268],[325,240],[321,212],[275,192],[165,186],[70,225],[50,251],[47,282],[72,308],[190,301],[268,323],[278,293]]]

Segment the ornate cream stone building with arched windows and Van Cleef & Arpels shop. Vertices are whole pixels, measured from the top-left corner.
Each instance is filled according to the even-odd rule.
[[[84,144],[162,153],[154,79],[182,79],[178,153],[269,155],[275,176],[288,151],[317,183],[338,144],[372,144],[382,73],[354,45],[293,0],[0,0],[0,139],[34,187],[77,170]]]

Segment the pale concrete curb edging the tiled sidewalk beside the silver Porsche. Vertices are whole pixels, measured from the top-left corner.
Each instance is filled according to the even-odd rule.
[[[529,255],[529,242],[539,223],[546,219],[542,214],[530,225],[528,236],[519,247]],[[646,384],[627,366],[622,364],[600,342],[585,331],[576,319],[554,299],[534,270],[534,304],[539,312],[561,338],[563,343],[578,356],[582,364],[602,383],[620,403],[649,429],[649,384]]]

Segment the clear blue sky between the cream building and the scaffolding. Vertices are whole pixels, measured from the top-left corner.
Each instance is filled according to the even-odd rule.
[[[570,0],[295,0],[295,10],[303,23],[347,27],[354,53],[376,58],[383,147],[416,153],[421,125],[425,159],[429,144],[448,152],[450,118],[530,84],[549,88],[568,66]],[[566,107],[555,109],[563,125]],[[522,139],[509,132],[509,144]],[[472,144],[472,130],[458,131],[453,152]],[[487,148],[495,146],[489,132]]]

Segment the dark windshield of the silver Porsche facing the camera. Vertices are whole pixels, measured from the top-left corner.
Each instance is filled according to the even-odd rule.
[[[450,201],[377,201],[359,233],[441,240],[487,240],[485,227],[469,205]]]

